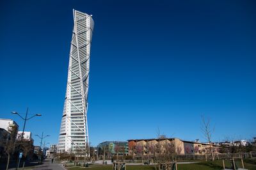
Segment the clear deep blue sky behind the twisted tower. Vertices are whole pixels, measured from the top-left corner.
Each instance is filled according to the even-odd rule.
[[[1,1],[0,118],[58,143],[72,9],[93,15],[88,128],[102,141],[256,136],[255,1]]]

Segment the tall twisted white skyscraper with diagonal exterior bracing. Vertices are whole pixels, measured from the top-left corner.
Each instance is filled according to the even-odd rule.
[[[87,109],[93,19],[91,15],[76,10],[73,10],[73,15],[74,29],[58,152],[72,151],[77,155],[88,155]]]

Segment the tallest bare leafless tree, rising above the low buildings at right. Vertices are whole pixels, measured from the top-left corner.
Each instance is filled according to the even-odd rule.
[[[212,141],[211,141],[212,134],[214,132],[214,128],[211,127],[211,119],[210,118],[207,118],[207,120],[205,120],[205,116],[202,115],[201,119],[202,119],[201,130],[203,132],[205,139],[207,139],[207,142],[210,145],[212,160],[214,160],[214,154],[213,154],[213,150],[212,150]]]

